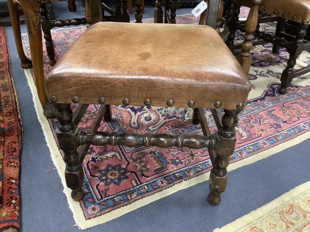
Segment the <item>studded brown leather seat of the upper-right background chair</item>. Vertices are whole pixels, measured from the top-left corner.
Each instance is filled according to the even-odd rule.
[[[235,3],[250,7],[250,0],[236,0]],[[297,23],[310,23],[310,0],[262,0],[259,4],[259,11],[290,19]]]

